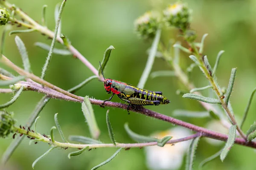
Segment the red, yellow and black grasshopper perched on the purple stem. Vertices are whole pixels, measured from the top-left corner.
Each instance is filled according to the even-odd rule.
[[[102,66],[100,62],[99,65],[102,71]],[[160,105],[170,103],[170,101],[162,95],[161,91],[147,91],[137,88],[133,85],[129,85],[125,82],[119,82],[113,79],[105,79],[103,71],[102,76],[104,78],[105,90],[108,94],[112,92],[111,97],[104,100],[102,105],[104,105],[105,102],[111,100],[115,94],[123,101],[128,102],[128,113],[128,109],[131,105]]]

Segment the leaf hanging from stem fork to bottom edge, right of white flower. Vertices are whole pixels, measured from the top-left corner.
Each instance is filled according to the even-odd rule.
[[[186,170],[193,170],[193,164],[195,161],[195,151],[198,146],[198,142],[201,136],[194,138],[189,146],[189,152],[186,157]]]

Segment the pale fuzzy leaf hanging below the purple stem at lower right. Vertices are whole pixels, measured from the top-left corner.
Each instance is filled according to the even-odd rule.
[[[224,161],[224,159],[227,156],[227,153],[230,151],[231,147],[233,147],[235,140],[236,140],[236,125],[232,125],[228,132],[227,143],[221,152],[221,156],[220,156],[221,161]]]

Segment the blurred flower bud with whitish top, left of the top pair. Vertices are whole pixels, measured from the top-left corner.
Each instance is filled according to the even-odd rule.
[[[154,38],[159,22],[154,12],[148,11],[134,22],[135,29],[144,39]]]

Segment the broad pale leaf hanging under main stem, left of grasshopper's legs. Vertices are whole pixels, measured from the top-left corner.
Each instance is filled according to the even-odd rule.
[[[94,116],[93,107],[90,103],[89,96],[84,97],[84,102],[82,102],[82,111],[89,126],[91,136],[93,139],[98,139],[100,130]]]

